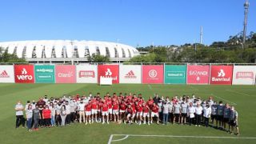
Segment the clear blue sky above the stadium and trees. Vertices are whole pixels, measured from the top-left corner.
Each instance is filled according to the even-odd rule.
[[[92,40],[130,46],[226,41],[243,29],[245,0],[0,0],[0,42]],[[249,0],[247,34],[256,32]]]

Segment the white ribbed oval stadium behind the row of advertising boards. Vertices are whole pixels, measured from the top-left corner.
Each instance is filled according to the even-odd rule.
[[[92,54],[108,56],[112,62],[123,62],[139,54],[133,46],[98,41],[16,41],[0,42],[0,47],[28,62],[87,62]]]

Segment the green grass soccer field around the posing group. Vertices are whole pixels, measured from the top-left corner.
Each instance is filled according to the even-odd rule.
[[[118,84],[0,84],[0,140],[1,143],[256,143],[256,86],[186,86]],[[202,99],[213,96],[234,105],[239,114],[240,135],[230,135],[222,130],[204,126],[180,125],[124,125],[110,123],[91,125],[75,123],[71,126],[42,128],[29,132],[15,129],[14,105],[18,100],[38,100],[44,96],[60,97],[62,94],[96,94],[110,92],[141,93],[148,98],[158,93],[172,97],[175,94],[195,94]],[[121,134],[121,135],[118,135]]]

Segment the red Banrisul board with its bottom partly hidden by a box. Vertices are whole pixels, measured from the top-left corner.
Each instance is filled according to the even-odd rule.
[[[112,78],[112,83],[119,83],[119,66],[98,65],[98,82],[100,77]]]

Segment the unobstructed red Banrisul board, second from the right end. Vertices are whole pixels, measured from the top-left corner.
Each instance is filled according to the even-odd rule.
[[[210,84],[231,85],[233,66],[211,66]]]

